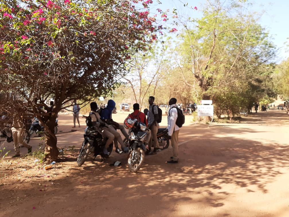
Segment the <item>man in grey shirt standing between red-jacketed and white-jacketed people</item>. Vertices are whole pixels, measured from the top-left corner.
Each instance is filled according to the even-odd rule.
[[[149,97],[149,113],[148,117],[148,128],[151,130],[151,139],[149,140],[149,149],[147,150],[148,155],[156,154],[159,149],[159,143],[157,138],[159,123],[156,121],[158,119],[158,107],[153,103],[155,98],[153,96]],[[153,141],[152,141],[153,140]],[[151,151],[151,146],[153,143],[153,152]]]

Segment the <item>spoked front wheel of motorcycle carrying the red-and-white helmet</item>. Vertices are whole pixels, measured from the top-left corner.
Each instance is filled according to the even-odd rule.
[[[133,149],[129,153],[127,160],[128,168],[131,172],[137,172],[144,162],[144,150],[142,148]]]

